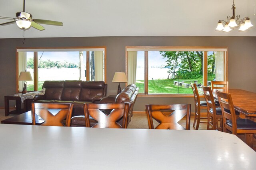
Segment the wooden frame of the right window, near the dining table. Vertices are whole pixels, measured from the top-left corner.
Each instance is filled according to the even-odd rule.
[[[193,94],[148,94],[148,51],[202,51],[203,58],[203,85],[207,86],[207,52],[225,52],[225,81],[228,81],[228,47],[214,46],[126,46],[125,47],[125,73],[128,75],[128,51],[144,51],[144,93],[139,93],[138,97],[194,97]],[[126,83],[126,86],[128,83]],[[200,95],[200,97],[204,97]]]

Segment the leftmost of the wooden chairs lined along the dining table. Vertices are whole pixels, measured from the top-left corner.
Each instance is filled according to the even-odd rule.
[[[207,117],[201,117],[201,109],[206,110],[207,103],[206,103],[206,101],[201,101],[199,93],[198,93],[198,89],[196,87],[196,83],[190,83],[190,84],[191,84],[191,88],[193,90],[194,101],[195,101],[195,118],[194,118],[193,127],[195,127],[195,124],[196,124],[196,130],[198,130],[200,123],[207,123],[207,121],[201,121],[204,119],[208,119]]]

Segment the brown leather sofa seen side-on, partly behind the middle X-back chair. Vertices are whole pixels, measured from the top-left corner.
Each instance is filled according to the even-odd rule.
[[[126,88],[124,88],[121,93],[119,93],[116,97],[103,97],[99,103],[128,103],[129,104],[129,111],[128,111],[128,122],[127,126],[131,121],[132,117],[132,111],[134,107],[134,103],[136,102],[137,96],[138,96],[139,88],[136,87],[134,84],[128,85]],[[109,111],[102,111],[106,115],[109,114]],[[95,121],[92,121],[92,118],[90,117],[90,123],[91,127],[96,123]],[[118,121],[120,125],[122,125],[122,119]],[[71,118],[71,126],[73,127],[85,127],[85,118],[84,116],[76,116]]]

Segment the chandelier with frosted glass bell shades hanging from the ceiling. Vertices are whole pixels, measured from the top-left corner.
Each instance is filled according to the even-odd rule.
[[[233,11],[232,17],[228,16],[226,21],[219,20],[216,30],[229,32],[229,31],[232,30],[231,28],[236,28],[236,27],[240,26],[239,31],[245,31],[248,28],[251,28],[253,26],[251,24],[250,18],[248,16],[243,18],[243,19],[240,19],[240,15],[237,15],[235,17],[236,7],[235,7],[235,4],[234,4],[234,0],[233,0],[233,5],[232,5],[231,9]],[[223,24],[224,24],[224,26],[223,26]]]

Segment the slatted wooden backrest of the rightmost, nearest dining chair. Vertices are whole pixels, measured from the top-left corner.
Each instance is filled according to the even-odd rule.
[[[235,132],[237,125],[236,125],[236,113],[234,109],[234,104],[232,101],[232,97],[230,93],[225,93],[221,91],[216,91],[221,111],[222,111],[222,119],[223,125],[226,123],[227,120],[232,121],[232,131]],[[224,126],[223,126],[224,127]]]

